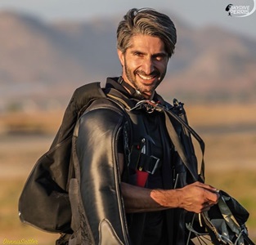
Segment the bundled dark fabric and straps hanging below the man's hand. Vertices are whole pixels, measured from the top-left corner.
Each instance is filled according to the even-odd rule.
[[[249,212],[226,192],[219,190],[219,194],[218,203],[198,215],[200,225],[194,220],[186,224],[186,228],[201,244],[211,241],[213,244],[254,245],[245,226]]]

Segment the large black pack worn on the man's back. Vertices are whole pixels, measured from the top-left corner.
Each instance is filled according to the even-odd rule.
[[[72,234],[68,182],[73,174],[74,126],[92,100],[103,97],[106,95],[100,82],[86,84],[74,91],[50,149],[38,159],[20,195],[22,222],[49,232]]]

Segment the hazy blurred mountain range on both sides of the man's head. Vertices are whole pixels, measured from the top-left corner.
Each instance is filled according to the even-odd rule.
[[[171,15],[170,15],[171,16]],[[159,91],[182,100],[256,100],[256,40],[173,17],[177,48]],[[46,23],[0,12],[0,109],[65,105],[74,88],[121,72],[119,20]]]

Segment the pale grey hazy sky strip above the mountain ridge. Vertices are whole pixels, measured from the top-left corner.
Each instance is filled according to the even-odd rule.
[[[228,4],[254,8],[256,0],[0,0],[0,10],[25,11],[43,20],[88,20],[99,16],[124,16],[132,7],[152,7],[173,12],[191,25],[218,25],[256,38],[256,11],[247,17],[228,16]]]

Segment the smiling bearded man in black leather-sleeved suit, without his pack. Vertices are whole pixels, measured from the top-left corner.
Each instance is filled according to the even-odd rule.
[[[119,23],[117,42],[122,76],[107,79],[109,99],[94,100],[74,130],[77,182],[70,195],[79,201],[70,198],[70,244],[186,244],[186,212],[208,211],[218,203],[217,189],[191,180],[164,114],[138,106],[150,100],[168,107],[155,89],[176,29],[164,14],[132,9]]]

